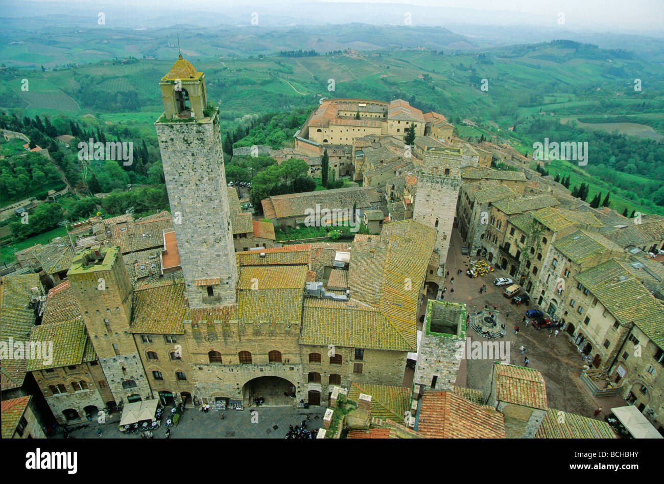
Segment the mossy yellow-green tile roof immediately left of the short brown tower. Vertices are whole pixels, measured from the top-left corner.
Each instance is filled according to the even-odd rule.
[[[88,332],[82,319],[35,326],[30,333],[30,340],[53,342],[52,362],[47,362],[44,358],[28,360],[27,370],[33,372],[44,368],[81,364],[84,361],[88,339]],[[93,359],[96,360],[96,356]]]

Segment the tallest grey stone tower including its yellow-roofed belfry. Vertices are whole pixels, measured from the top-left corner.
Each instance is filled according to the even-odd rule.
[[[238,279],[219,118],[182,56],[161,78],[157,138],[191,308],[233,304]]]

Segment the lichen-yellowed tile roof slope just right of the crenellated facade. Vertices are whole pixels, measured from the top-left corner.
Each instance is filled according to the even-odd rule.
[[[352,301],[307,298],[300,344],[408,351],[410,344],[380,311]]]

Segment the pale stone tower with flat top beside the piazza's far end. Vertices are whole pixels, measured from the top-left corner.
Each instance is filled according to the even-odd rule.
[[[422,166],[417,170],[413,219],[438,231],[434,246],[438,253],[437,275],[444,277],[461,187],[461,150],[426,148],[422,158]]]

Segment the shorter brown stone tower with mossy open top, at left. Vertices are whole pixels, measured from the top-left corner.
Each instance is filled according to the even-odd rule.
[[[116,404],[130,395],[151,398],[131,324],[131,280],[120,247],[79,253],[67,273],[94,350]]]

